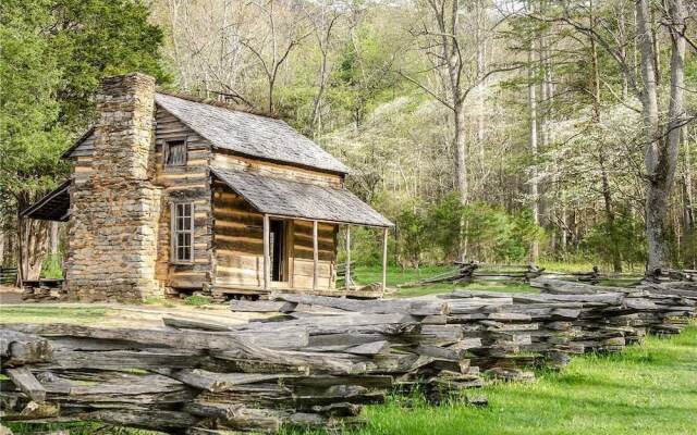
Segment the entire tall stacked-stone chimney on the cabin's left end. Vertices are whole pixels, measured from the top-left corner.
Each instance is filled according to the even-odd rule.
[[[71,185],[66,285],[72,299],[133,301],[155,279],[161,190],[154,185],[155,78],[105,78],[91,172]]]

